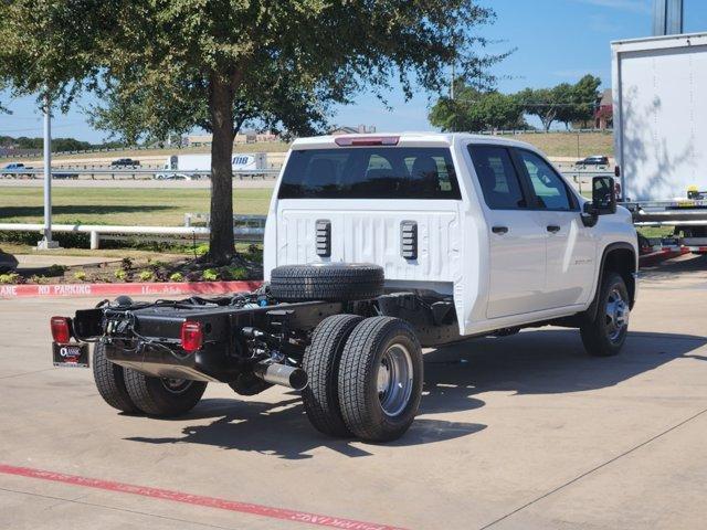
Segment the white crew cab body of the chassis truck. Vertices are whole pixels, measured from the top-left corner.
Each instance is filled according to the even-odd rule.
[[[265,279],[281,265],[377,264],[390,289],[452,297],[465,336],[587,311],[614,255],[633,305],[631,214],[615,208],[592,219],[591,205],[520,141],[468,134],[296,140],[267,218]]]

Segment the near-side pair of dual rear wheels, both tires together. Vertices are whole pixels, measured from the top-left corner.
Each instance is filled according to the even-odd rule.
[[[422,349],[399,318],[336,315],[315,329],[303,368],[307,417],[331,436],[387,442],[414,420],[423,382]]]

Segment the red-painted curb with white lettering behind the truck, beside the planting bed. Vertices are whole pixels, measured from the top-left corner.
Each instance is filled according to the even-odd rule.
[[[165,282],[145,284],[0,285],[0,299],[118,295],[223,295],[256,289],[261,280]]]

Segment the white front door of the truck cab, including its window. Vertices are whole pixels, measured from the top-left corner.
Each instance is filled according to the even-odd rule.
[[[569,184],[538,153],[515,149],[535,195],[532,201],[547,239],[545,295],[541,309],[583,304],[595,277],[594,231],[582,224],[579,201]]]

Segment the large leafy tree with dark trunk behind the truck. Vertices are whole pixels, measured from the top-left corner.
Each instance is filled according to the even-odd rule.
[[[440,89],[452,60],[469,76],[494,62],[472,33],[493,14],[472,0],[14,0],[0,2],[0,78],[63,109],[95,91],[117,104],[108,109],[135,113],[103,116],[130,134],[210,130],[210,257],[220,263],[234,252],[238,109],[258,105],[258,87],[292,81],[306,95],[287,115],[272,100],[255,110],[285,125],[302,124],[305,102],[316,121],[319,97],[344,103],[365,85],[380,94],[393,75],[407,97]]]

